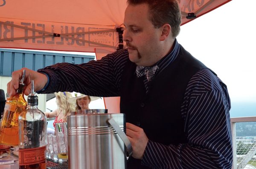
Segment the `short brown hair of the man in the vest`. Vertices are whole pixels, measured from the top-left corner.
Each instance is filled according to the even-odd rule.
[[[172,27],[172,37],[180,33],[180,8],[177,0],[127,0],[129,5],[148,4],[149,19],[155,28],[160,28],[165,23]]]

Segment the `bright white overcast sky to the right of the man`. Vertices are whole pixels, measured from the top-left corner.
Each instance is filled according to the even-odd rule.
[[[232,0],[181,26],[177,37],[218,74],[232,102],[256,103],[255,8],[256,0]]]

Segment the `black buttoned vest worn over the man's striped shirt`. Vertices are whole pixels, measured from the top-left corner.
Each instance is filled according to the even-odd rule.
[[[143,128],[151,141],[165,145],[187,143],[181,104],[189,80],[203,68],[203,63],[180,46],[177,58],[154,77],[146,94],[145,77],[138,78],[136,65],[128,61],[120,88],[120,112],[126,114],[126,122]],[[140,163],[130,158],[128,169],[148,169]]]

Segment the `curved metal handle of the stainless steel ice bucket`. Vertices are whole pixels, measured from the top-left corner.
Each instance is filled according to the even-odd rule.
[[[116,123],[116,121],[113,118],[108,119],[107,122],[116,130],[117,134],[125,143],[126,151],[128,153],[128,157],[127,157],[127,160],[128,160],[128,158],[132,155],[131,142],[129,141],[128,137],[125,135],[125,132],[122,131],[120,126]]]

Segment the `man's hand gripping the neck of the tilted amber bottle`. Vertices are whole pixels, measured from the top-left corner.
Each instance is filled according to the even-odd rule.
[[[35,91],[41,90],[47,83],[47,76],[42,73],[35,72],[33,70],[22,68],[15,72],[12,72],[12,80],[7,83],[7,93],[9,93],[10,97],[15,95],[16,90],[19,88],[20,79],[22,78],[23,69],[26,70],[26,76],[23,83],[26,85],[26,89],[24,91],[25,95],[29,95],[31,93],[31,80],[34,80]]]

